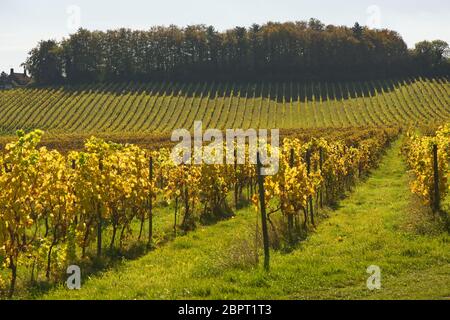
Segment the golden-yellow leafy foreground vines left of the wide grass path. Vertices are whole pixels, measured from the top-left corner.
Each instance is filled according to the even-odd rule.
[[[98,138],[89,139],[84,151],[62,155],[37,148],[41,131],[18,135],[0,157],[0,279],[2,270],[10,271],[10,296],[19,267],[29,266],[33,276],[44,270],[50,281],[68,264],[87,258],[93,243],[101,257],[106,230],[112,234],[109,249],[121,248],[138,221],[139,240],[145,237],[152,247],[158,199],[173,208],[175,235],[201,221],[230,217],[230,208],[245,203],[245,195],[258,204],[251,164],[175,165],[169,149],[150,152]],[[386,128],[355,131],[345,141],[331,132],[285,139],[280,171],[265,181],[269,222],[274,215],[286,220],[294,240],[299,230],[315,224],[316,207],[338,201],[397,135],[398,129]]]

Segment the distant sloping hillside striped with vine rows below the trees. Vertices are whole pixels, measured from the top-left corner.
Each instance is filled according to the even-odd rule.
[[[339,83],[105,83],[0,91],[0,134],[170,133],[442,123],[446,78]]]

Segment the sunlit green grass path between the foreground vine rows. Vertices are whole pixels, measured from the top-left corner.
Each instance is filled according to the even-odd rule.
[[[198,229],[145,257],[47,299],[450,299],[450,235],[413,232],[400,142],[371,177],[291,253],[255,265],[256,214]],[[382,289],[369,291],[377,265]]]

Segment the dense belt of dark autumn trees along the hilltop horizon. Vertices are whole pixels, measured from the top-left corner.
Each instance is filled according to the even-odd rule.
[[[88,31],[42,41],[26,68],[38,83],[122,80],[373,78],[443,70],[448,44],[408,50],[390,30],[355,24],[254,24],[218,32],[212,26]],[[444,71],[445,72],[445,71]]]

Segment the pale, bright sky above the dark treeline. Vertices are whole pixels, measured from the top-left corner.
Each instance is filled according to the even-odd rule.
[[[325,24],[392,29],[409,47],[421,40],[450,43],[448,0],[0,0],[0,71],[19,70],[40,40],[61,40],[78,27],[207,24],[225,30],[311,17]]]

